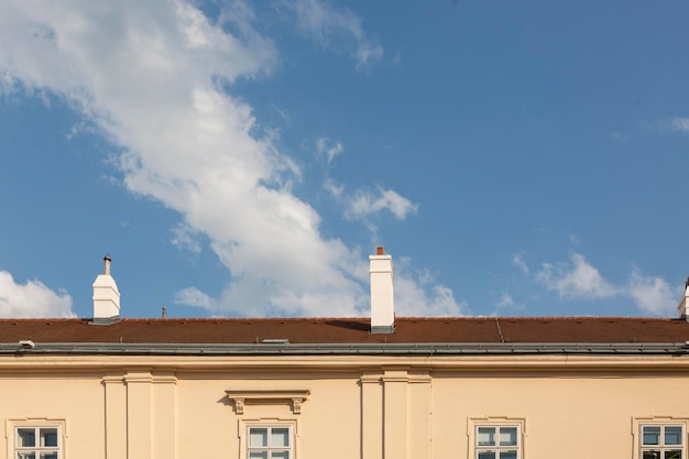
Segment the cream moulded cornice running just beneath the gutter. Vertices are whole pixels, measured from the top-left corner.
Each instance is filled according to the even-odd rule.
[[[687,372],[689,356],[0,356],[0,370],[117,373],[140,368],[167,372],[322,372],[374,374],[404,367],[423,372]],[[347,374],[343,374],[347,376]]]

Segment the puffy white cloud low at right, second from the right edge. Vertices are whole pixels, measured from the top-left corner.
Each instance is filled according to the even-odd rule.
[[[571,263],[571,266],[544,263],[536,280],[564,298],[605,298],[619,293],[583,255],[573,253]]]

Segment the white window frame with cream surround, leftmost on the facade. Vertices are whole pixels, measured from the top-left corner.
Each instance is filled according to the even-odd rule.
[[[36,459],[40,459],[41,453],[57,455],[57,459],[65,457],[65,428],[64,419],[47,419],[47,418],[24,418],[24,419],[8,419],[7,430],[11,433],[10,441],[8,441],[8,458],[19,459],[21,453],[31,455],[34,453]],[[35,445],[23,446],[20,442],[20,429],[33,429]],[[41,430],[42,429],[55,429],[57,434],[56,446],[41,445]]]

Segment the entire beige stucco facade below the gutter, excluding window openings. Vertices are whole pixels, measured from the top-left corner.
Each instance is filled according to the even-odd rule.
[[[296,459],[467,458],[472,420],[522,423],[524,459],[634,459],[634,419],[685,422],[688,385],[670,357],[2,357],[0,458],[48,419],[65,459],[242,458],[253,423],[293,427]]]

